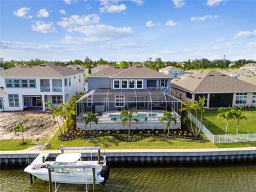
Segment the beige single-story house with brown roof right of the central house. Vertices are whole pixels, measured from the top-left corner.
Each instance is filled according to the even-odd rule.
[[[172,95],[184,102],[205,96],[205,108],[256,106],[256,85],[217,71],[185,74],[173,79],[171,87]]]

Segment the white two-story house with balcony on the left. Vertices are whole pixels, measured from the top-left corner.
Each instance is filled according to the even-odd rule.
[[[20,66],[0,72],[0,110],[42,108],[45,102],[66,103],[83,92],[83,72],[60,65]]]

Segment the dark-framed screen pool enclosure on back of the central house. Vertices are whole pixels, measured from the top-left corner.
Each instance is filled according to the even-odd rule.
[[[146,115],[141,120],[157,120],[156,116],[163,116],[164,111],[172,111],[180,120],[180,107],[180,100],[161,90],[98,89],[87,92],[77,100],[77,122],[83,121],[83,116],[88,112],[93,112],[100,120],[109,122],[113,120],[111,115],[120,114],[122,109],[129,111],[134,108],[138,110],[138,114]]]

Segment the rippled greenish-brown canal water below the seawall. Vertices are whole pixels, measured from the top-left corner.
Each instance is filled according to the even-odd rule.
[[[107,186],[97,191],[256,191],[256,165],[111,168]],[[83,190],[63,185],[61,190]],[[0,191],[47,191],[48,183],[22,169],[0,170]]]

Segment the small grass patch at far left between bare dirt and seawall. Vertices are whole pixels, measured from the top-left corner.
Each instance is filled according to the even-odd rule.
[[[25,142],[25,145],[21,145],[22,140],[0,140],[0,150],[23,150],[31,147],[31,140]]]

